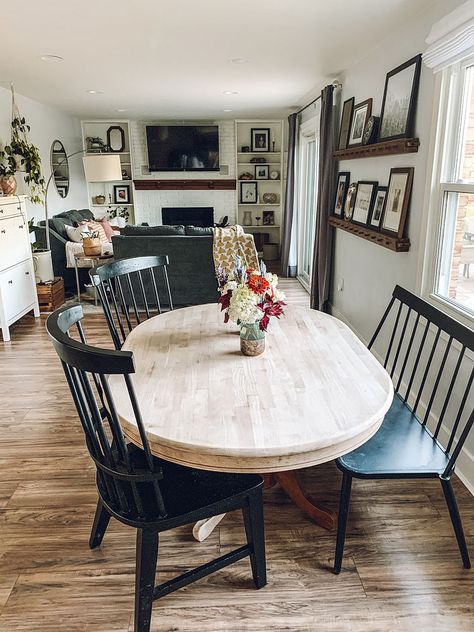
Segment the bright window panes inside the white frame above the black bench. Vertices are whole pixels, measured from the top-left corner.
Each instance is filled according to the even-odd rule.
[[[474,59],[445,71],[430,293],[474,318]]]

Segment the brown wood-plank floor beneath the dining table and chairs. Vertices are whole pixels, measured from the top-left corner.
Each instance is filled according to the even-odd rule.
[[[308,301],[282,280],[289,302]],[[112,520],[88,548],[94,470],[44,320],[25,317],[0,342],[0,630],[129,632],[134,530]],[[88,313],[91,342],[111,346]],[[304,471],[308,490],[337,509],[331,463]],[[474,557],[474,501],[456,479]],[[343,572],[330,572],[334,532],[305,518],[279,488],[265,493],[268,586],[253,588],[243,560],[154,606],[152,629],[174,632],[472,630],[474,571],[463,570],[436,481],[355,481]],[[165,533],[159,580],[203,563],[244,531],[228,514],[203,543],[191,527]]]

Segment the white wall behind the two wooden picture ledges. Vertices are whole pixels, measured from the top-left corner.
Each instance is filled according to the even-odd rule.
[[[383,44],[364,60],[346,71],[341,103],[354,96],[355,102],[373,98],[372,113],[380,114],[385,75],[407,59],[423,52],[431,26],[462,4],[461,0],[443,0],[392,33]],[[364,160],[341,161],[339,171],[349,171],[351,182],[377,180],[388,183],[392,167],[414,167],[414,184],[408,221],[410,251],[394,253],[364,239],[335,230],[334,276],[332,287],[333,314],[346,321],[365,341],[369,340],[380,320],[396,284],[416,293],[419,277],[419,255],[423,248],[422,209],[426,184],[428,149],[432,127],[434,75],[422,66],[415,135],[420,139],[416,154],[382,156]],[[422,261],[422,257],[420,258]],[[344,280],[342,292],[337,290]],[[443,345],[438,356],[443,352]],[[438,358],[439,359],[439,358]],[[435,359],[437,361],[438,359]],[[435,411],[436,412],[436,411]],[[459,461],[463,479],[474,490],[474,436],[465,446]]]

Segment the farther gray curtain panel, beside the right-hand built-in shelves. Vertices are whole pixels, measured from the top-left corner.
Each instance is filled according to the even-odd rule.
[[[296,196],[295,160],[298,115],[290,114],[288,117],[288,168],[286,178],[285,213],[283,215],[283,231],[281,240],[281,273],[282,276],[296,276],[296,266],[290,262],[291,234],[293,228],[293,211]]]

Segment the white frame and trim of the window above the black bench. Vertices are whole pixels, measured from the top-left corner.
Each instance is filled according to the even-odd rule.
[[[424,248],[420,251],[418,269],[418,289],[428,302],[469,327],[474,325],[474,315],[459,303],[436,293],[439,273],[440,249],[444,227],[445,193],[474,193],[474,184],[455,181],[459,172],[457,160],[462,143],[464,103],[464,72],[474,66],[474,57],[456,63],[435,75],[432,137],[427,164],[433,165],[425,189],[424,221],[422,235],[425,234]],[[423,246],[423,241],[420,241]]]

